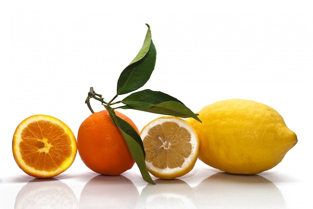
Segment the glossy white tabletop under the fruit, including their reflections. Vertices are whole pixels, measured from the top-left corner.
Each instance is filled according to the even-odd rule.
[[[287,161],[287,160],[285,160]],[[281,163],[283,165],[290,162]],[[80,168],[75,170],[75,168]],[[295,209],[310,208],[309,175],[278,165],[258,175],[230,175],[197,161],[175,180],[142,181],[136,167],[116,177],[97,175],[77,162],[65,173],[38,180],[20,172],[1,179],[1,208]]]

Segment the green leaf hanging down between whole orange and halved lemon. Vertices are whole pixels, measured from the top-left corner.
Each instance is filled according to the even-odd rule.
[[[154,184],[153,180],[151,179],[151,176],[149,175],[146,169],[144,161],[145,153],[143,149],[143,143],[139,134],[132,128],[132,126],[129,123],[116,116],[114,112],[109,111],[109,113],[111,119],[122,133],[123,138],[131,153],[131,156],[139,168],[143,180],[150,184]]]

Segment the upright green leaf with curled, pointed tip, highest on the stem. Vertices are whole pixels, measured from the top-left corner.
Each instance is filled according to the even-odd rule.
[[[142,87],[154,70],[156,49],[151,39],[150,26],[146,25],[148,30],[140,51],[118,78],[117,95],[126,94]]]

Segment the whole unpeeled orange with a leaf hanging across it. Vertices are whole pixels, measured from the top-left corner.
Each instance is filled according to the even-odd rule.
[[[117,111],[115,114],[139,133],[127,116]],[[81,123],[77,134],[77,149],[82,162],[99,174],[117,176],[134,164],[120,130],[106,110],[91,114]]]

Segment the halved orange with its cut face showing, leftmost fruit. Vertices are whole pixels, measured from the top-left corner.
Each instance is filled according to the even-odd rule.
[[[71,166],[76,139],[62,121],[47,115],[33,115],[16,128],[13,157],[20,169],[36,178],[54,177]]]

